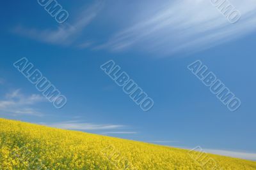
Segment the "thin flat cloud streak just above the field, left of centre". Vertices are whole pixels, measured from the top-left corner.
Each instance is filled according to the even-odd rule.
[[[57,127],[60,129],[70,129],[79,131],[95,131],[95,130],[109,130],[109,129],[120,129],[125,125],[114,125],[114,124],[92,124],[80,121],[67,121],[67,122],[56,122],[56,123],[40,123],[49,127]]]

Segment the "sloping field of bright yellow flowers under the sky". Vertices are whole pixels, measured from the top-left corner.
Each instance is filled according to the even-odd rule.
[[[256,162],[0,118],[0,169],[256,169]]]

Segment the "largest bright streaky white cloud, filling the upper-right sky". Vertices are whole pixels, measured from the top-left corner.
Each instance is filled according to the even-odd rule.
[[[255,1],[230,0],[230,3],[241,12],[241,20],[236,24],[230,24],[211,1],[168,1],[158,13],[116,33],[97,48],[113,51],[132,48],[170,54],[202,50],[255,31]]]

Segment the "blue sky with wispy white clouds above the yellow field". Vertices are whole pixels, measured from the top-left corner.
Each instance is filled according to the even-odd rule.
[[[230,24],[207,1],[1,4],[0,117],[256,160],[256,4],[230,0]],[[254,10],[254,11],[253,11]],[[67,97],[54,108],[13,62],[26,57]],[[229,111],[187,66],[201,60],[239,99]],[[142,111],[100,66],[115,60],[154,99]]]

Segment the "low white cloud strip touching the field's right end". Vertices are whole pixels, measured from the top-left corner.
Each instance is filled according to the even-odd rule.
[[[212,150],[212,149],[205,149],[205,152],[214,153],[216,155],[223,155],[227,157],[256,160],[256,153],[235,152],[235,151],[228,151],[228,150]]]

